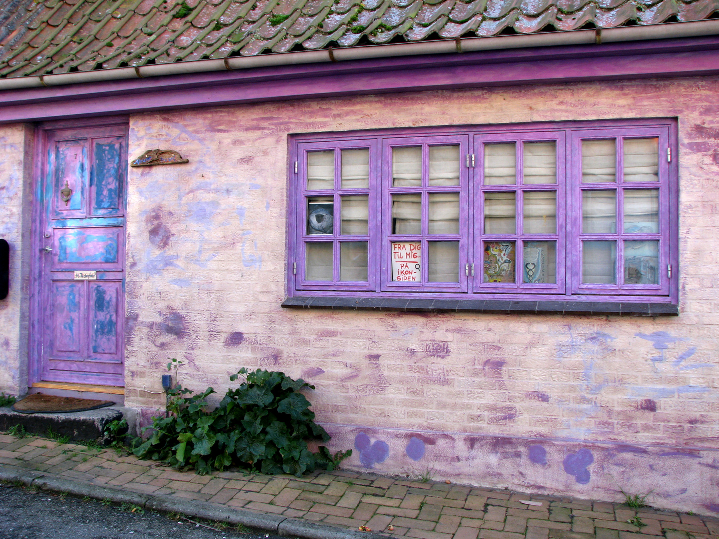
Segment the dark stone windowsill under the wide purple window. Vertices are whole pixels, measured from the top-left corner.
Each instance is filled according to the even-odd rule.
[[[286,298],[284,308],[389,310],[408,313],[576,314],[624,316],[678,316],[669,303],[619,303],[593,301],[507,301],[422,298],[336,298],[296,296]]]

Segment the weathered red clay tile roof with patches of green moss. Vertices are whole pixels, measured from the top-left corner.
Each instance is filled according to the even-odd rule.
[[[333,50],[339,57],[358,45],[426,41],[452,49],[459,37],[463,43],[466,38],[482,42],[476,38],[501,33],[557,39],[575,29],[627,24],[649,29],[662,22],[706,19],[715,11],[719,0],[6,0],[0,8],[0,78],[5,79],[0,83],[32,77],[37,85],[27,86],[45,86],[39,75],[119,71],[114,68],[134,72],[115,78],[145,76],[134,70],[140,67],[147,75],[233,69],[244,67],[236,57],[262,58],[247,65],[255,67],[273,63],[267,62],[268,53],[304,50],[326,52],[321,60],[308,55],[299,63],[330,61],[336,60]],[[661,26],[669,27],[674,25]],[[525,46],[510,42],[505,40],[505,46]],[[424,47],[404,50],[429,53]],[[200,68],[190,67],[192,60],[218,62]],[[169,69],[158,70],[161,65]],[[63,83],[75,81],[81,77],[68,76]]]

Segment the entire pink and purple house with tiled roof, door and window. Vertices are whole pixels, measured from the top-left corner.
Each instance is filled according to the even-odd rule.
[[[281,370],[350,469],[717,514],[715,10],[10,2],[0,391]]]

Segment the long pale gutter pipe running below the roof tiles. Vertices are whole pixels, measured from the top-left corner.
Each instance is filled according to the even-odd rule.
[[[521,49],[530,47],[559,47],[594,45],[598,43],[664,40],[682,37],[702,37],[719,34],[719,19],[694,22],[672,22],[651,26],[617,27],[596,30],[572,30],[546,34],[519,34],[495,37],[471,37],[465,40],[398,43],[368,47],[334,48],[283,52],[273,55],[226,57],[218,60],[195,60],[168,64],[142,65],[130,68],[93,70],[58,75],[37,75],[0,79],[0,91],[45,86],[97,83],[107,80],[147,78],[224,70],[276,67],[308,63],[347,62],[387,57],[458,54],[486,50]]]

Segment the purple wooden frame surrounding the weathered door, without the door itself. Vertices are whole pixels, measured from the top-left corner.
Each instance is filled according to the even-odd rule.
[[[46,121],[35,126],[35,155],[32,157],[32,226],[30,227],[31,241],[29,246],[31,254],[29,257],[30,262],[30,280],[29,280],[29,324],[28,324],[28,342],[27,342],[27,384],[32,387],[32,384],[36,382],[42,382],[42,324],[40,320],[42,318],[42,284],[43,284],[43,259],[40,256],[40,249],[43,247],[44,239],[42,236],[42,229],[44,229],[45,221],[43,220],[42,211],[45,208],[47,201],[44,200],[42,194],[42,188],[47,180],[47,167],[49,160],[47,159],[47,152],[49,150],[48,139],[50,132],[58,129],[83,129],[93,127],[109,127],[109,126],[127,126],[129,136],[129,116],[103,116],[99,118],[77,118],[77,119],[63,119],[58,121]],[[129,149],[129,148],[128,148]],[[128,163],[129,167],[129,156]],[[129,178],[129,174],[126,176]],[[125,226],[127,230],[127,181],[124,185],[125,190]],[[127,232],[126,232],[127,234]],[[126,235],[127,237],[127,235]],[[127,249],[127,247],[126,247]],[[127,255],[127,252],[126,252]],[[127,256],[125,257],[125,272],[124,275],[127,277]],[[122,297],[122,310],[123,316],[122,321],[118,320],[118,324],[122,323],[122,336],[123,336],[123,348],[124,348],[124,335],[127,326],[124,316],[124,286],[123,297]],[[119,318],[119,317],[118,317]],[[123,351],[124,352],[124,351]],[[123,353],[123,369],[124,369],[124,353]],[[124,372],[123,372],[124,377]],[[107,386],[111,387],[111,386]]]

